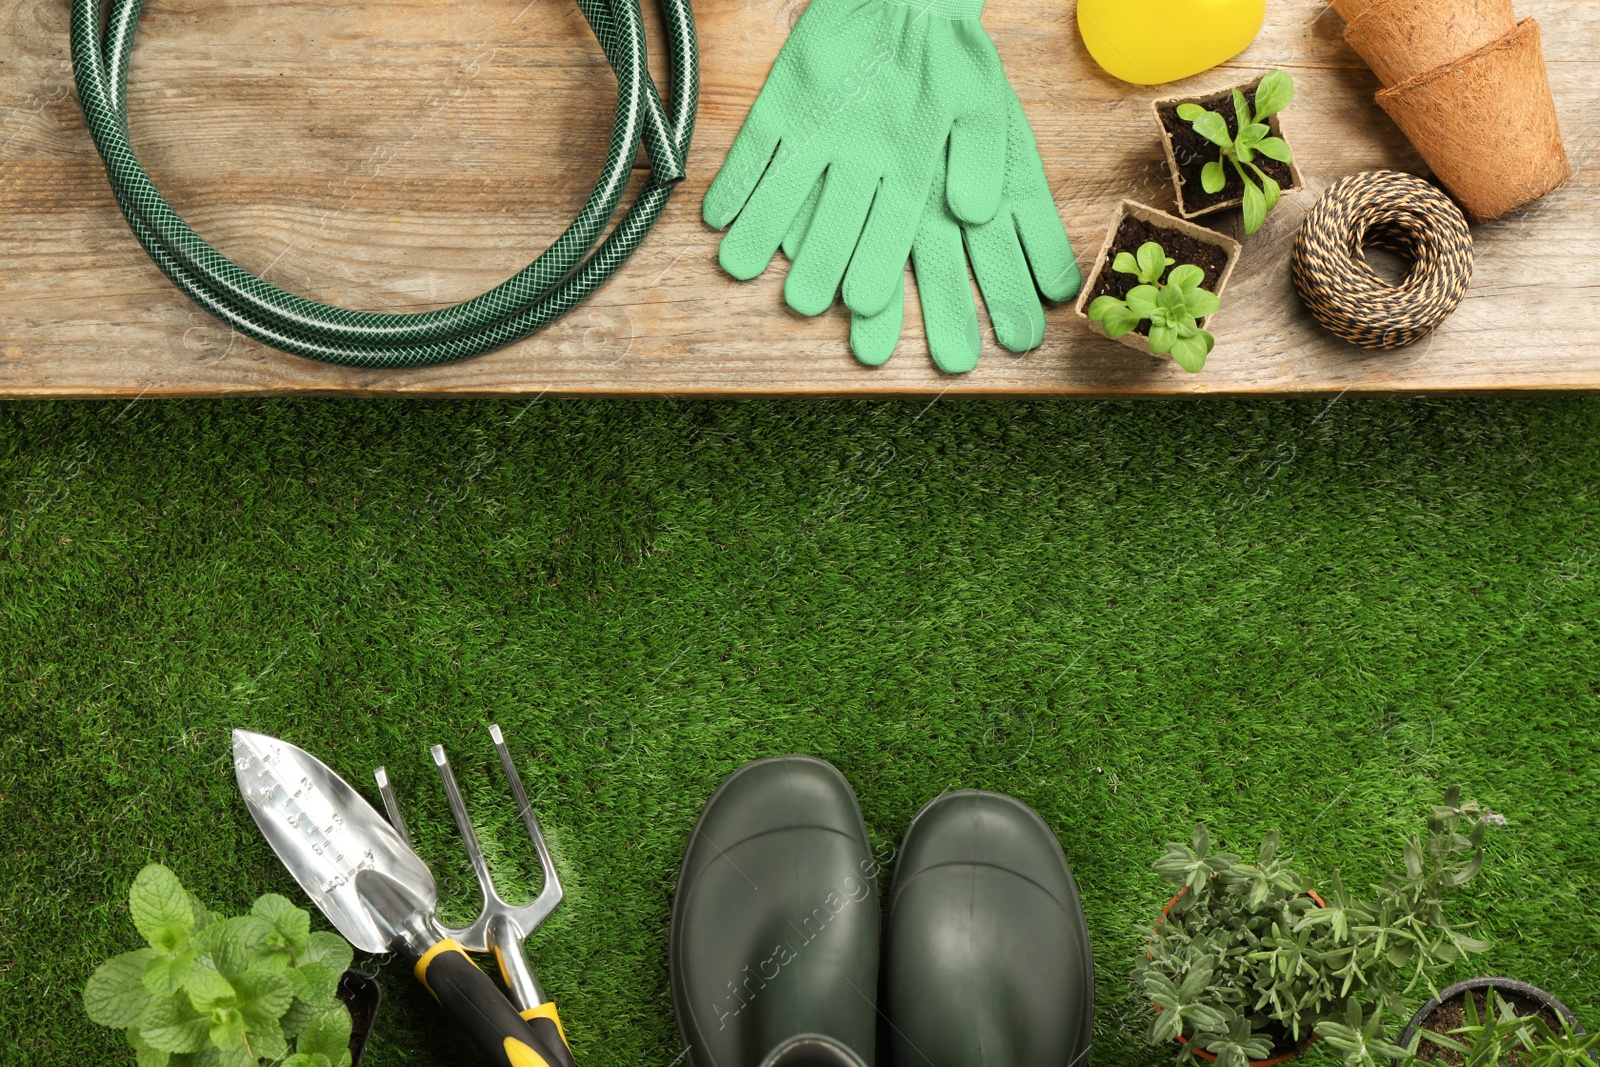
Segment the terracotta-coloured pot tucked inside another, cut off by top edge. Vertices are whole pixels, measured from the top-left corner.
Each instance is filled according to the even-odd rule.
[[[1378,80],[1400,85],[1517,29],[1510,0],[1378,0],[1344,30]]]

